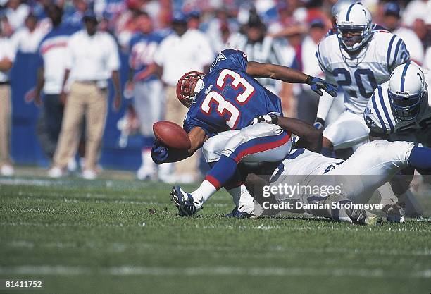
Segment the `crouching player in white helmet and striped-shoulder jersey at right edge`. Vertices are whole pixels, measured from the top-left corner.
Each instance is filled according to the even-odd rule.
[[[395,68],[389,81],[378,86],[366,106],[364,118],[370,140],[411,141],[431,146],[431,76],[415,63]]]

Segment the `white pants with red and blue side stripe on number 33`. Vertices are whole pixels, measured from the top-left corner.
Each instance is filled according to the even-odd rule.
[[[289,135],[283,135],[284,132],[285,130],[278,125],[256,123],[242,130],[228,130],[209,138],[204,143],[202,152],[208,163],[218,161],[221,155],[251,164],[281,161],[289,154],[292,147],[291,140],[286,138]],[[274,142],[275,136],[280,137],[280,140]],[[258,141],[260,138],[262,140]],[[241,154],[244,154],[242,151],[250,150],[247,143],[252,147],[261,147],[257,147],[253,152],[246,152],[242,157]]]

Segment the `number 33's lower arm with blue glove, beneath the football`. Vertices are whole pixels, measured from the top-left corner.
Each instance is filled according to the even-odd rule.
[[[208,140],[208,135],[204,129],[195,127],[187,134],[190,139],[190,149],[182,150],[182,149],[173,149],[161,145],[160,142],[156,140],[154,142],[153,149],[151,149],[151,157],[156,164],[163,164],[165,162],[177,162],[182,161],[182,159],[186,159],[187,157],[191,157],[197,149],[204,145],[204,142]]]

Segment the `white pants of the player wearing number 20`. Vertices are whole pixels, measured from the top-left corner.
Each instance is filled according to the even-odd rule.
[[[363,116],[344,111],[339,118],[323,130],[323,137],[332,142],[334,149],[353,147],[368,140],[370,130]]]

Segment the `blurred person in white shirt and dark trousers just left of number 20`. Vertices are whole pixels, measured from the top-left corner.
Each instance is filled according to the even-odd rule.
[[[316,18],[310,23],[308,35],[301,43],[299,55],[296,55],[296,64],[300,71],[307,75],[323,78],[323,72],[316,59],[316,46],[325,37],[327,28],[321,18]],[[299,119],[314,123],[318,109],[319,96],[310,87],[302,87],[298,95],[297,115]]]

